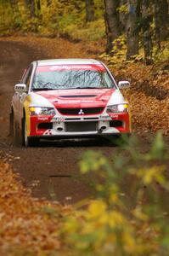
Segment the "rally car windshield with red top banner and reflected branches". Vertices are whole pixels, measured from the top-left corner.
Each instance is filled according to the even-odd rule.
[[[32,90],[115,88],[104,66],[57,65],[37,67]]]

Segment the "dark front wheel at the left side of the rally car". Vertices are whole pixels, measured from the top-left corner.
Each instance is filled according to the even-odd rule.
[[[37,144],[39,143],[39,139],[36,137],[34,138],[34,137],[27,136],[27,124],[26,124],[25,117],[22,122],[22,133],[23,133],[23,144],[25,145],[25,147],[37,146]]]

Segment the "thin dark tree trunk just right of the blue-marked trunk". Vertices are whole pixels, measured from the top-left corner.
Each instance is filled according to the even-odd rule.
[[[143,17],[143,32],[144,32],[144,58],[146,64],[152,63],[152,31],[150,23],[152,21],[152,15],[149,15],[149,2],[143,0],[142,3],[142,17]]]

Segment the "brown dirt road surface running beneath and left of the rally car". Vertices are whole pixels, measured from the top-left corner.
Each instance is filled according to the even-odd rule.
[[[22,183],[31,189],[33,196],[73,203],[91,195],[79,174],[78,160],[82,153],[93,149],[110,156],[115,148],[99,141],[42,143],[37,148],[23,148],[15,147],[8,137],[14,84],[31,61],[47,57],[41,49],[32,49],[24,43],[0,41],[0,158],[7,161],[14,172],[19,172]],[[149,141],[146,137],[143,139],[146,147]]]

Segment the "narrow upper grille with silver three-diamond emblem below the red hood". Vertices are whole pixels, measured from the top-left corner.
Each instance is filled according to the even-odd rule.
[[[102,113],[104,108],[57,108],[61,114],[96,114]]]

